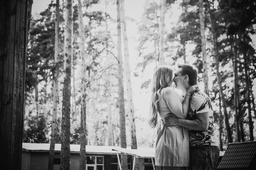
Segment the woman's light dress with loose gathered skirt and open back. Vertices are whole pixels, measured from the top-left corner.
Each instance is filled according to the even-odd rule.
[[[163,88],[160,92],[159,115],[164,118],[168,113],[172,113],[163,100]],[[178,94],[180,102],[183,98]],[[189,166],[189,133],[188,129],[181,126],[164,125],[162,130],[157,134],[155,150],[156,166],[164,167],[188,167]]]

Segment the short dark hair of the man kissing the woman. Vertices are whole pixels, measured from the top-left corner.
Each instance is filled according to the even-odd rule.
[[[195,66],[189,64],[178,64],[177,66],[178,68],[182,68],[182,76],[189,76],[189,85],[197,84],[198,69]]]

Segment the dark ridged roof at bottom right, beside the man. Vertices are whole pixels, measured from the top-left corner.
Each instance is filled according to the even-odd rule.
[[[230,143],[217,169],[249,167],[256,154],[256,141]]]

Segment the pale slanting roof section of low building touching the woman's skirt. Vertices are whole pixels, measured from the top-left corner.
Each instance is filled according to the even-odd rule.
[[[140,147],[138,149],[130,149],[130,148],[113,148],[112,150],[116,150],[122,153],[126,153],[129,155],[134,155],[142,158],[154,158],[155,156],[155,149],[154,148],[143,148]]]

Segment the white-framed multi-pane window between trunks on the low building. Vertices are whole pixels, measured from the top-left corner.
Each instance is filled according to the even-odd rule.
[[[104,170],[104,157],[86,156],[86,170]]]

